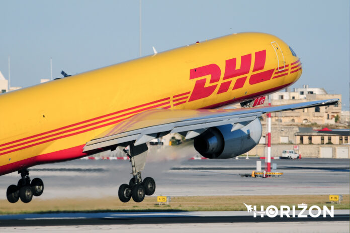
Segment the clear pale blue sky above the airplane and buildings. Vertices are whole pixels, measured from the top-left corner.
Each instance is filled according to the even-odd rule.
[[[238,32],[273,34],[297,53],[293,87],[342,94],[349,110],[349,6],[333,1],[151,1],[141,3],[141,55]],[[61,70],[77,74],[139,57],[139,0],[0,0],[0,71],[27,87]]]

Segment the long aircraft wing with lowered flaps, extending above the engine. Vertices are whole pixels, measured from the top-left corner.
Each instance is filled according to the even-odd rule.
[[[135,114],[123,122],[113,125],[85,144],[83,152],[113,149],[146,143],[169,133],[184,133],[186,138],[194,138],[207,128],[232,124],[232,131],[238,130],[267,112],[277,112],[338,103],[339,99],[326,99],[276,106],[237,109],[197,109],[171,110],[151,109]]]

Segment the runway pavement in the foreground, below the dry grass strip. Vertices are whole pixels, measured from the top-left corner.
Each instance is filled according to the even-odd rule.
[[[302,221],[301,221],[302,220]],[[143,232],[211,232],[213,228],[229,232],[234,228],[239,232],[251,232],[260,228],[260,232],[279,232],[286,226],[293,226],[297,232],[345,232],[349,227],[349,210],[335,210],[334,217],[287,218],[256,217],[247,211],[212,212],[107,212],[107,213],[47,213],[18,214],[0,216],[2,231],[112,231],[116,229],[130,232],[142,229]],[[16,228],[13,228],[16,226]],[[54,226],[54,227],[53,227]],[[178,231],[176,231],[178,230]],[[249,230],[249,231],[247,231]],[[313,231],[314,230],[314,231]],[[316,231],[315,231],[316,232]]]

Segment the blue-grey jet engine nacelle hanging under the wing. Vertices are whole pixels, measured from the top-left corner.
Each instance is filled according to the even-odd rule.
[[[232,125],[209,128],[195,138],[196,151],[208,159],[229,159],[250,151],[261,138],[259,119],[239,130],[231,129]]]

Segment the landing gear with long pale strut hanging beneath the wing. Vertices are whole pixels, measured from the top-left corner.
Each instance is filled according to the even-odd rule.
[[[122,184],[119,187],[118,196],[122,202],[128,202],[131,197],[135,202],[141,202],[145,198],[145,195],[152,195],[155,191],[153,178],[146,177],[143,181],[141,178],[141,171],[146,161],[145,152],[147,150],[146,144],[139,146],[130,145],[131,155],[124,150],[130,158],[133,177],[130,179],[129,184]]]

